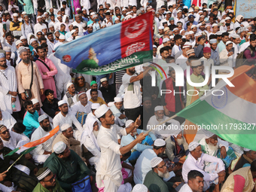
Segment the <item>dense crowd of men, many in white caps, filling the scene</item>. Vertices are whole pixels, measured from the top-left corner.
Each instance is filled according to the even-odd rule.
[[[19,0],[20,10],[0,0],[0,190],[81,191],[81,183],[106,192],[254,190],[256,151],[203,130],[187,142],[184,118],[169,117],[193,102],[184,90],[203,96],[212,88],[212,66],[255,64],[256,17],[235,17],[224,0],[72,2]],[[167,77],[157,75],[152,87],[153,64],[92,76],[54,56],[61,44],[147,12],[154,62],[180,66],[184,87],[175,86],[172,67],[163,66]],[[247,75],[256,80],[255,70]],[[207,84],[192,87],[188,78]],[[163,121],[178,130],[148,132]],[[57,126],[28,154],[8,155]]]

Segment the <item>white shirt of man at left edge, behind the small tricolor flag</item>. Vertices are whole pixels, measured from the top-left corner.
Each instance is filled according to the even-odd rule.
[[[20,148],[20,146],[23,146],[29,142],[29,138],[27,136],[23,136],[11,130],[9,130],[9,132],[11,136],[9,141],[5,141],[4,139],[2,139],[2,142],[4,143],[5,147],[11,148],[11,150],[14,150],[14,148]]]

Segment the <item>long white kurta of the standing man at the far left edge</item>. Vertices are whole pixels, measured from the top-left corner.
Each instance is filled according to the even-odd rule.
[[[12,114],[12,96],[8,94],[9,91],[17,92],[17,78],[13,66],[8,66],[8,68],[5,70],[0,70],[0,108],[2,111],[8,111],[10,114]],[[15,107],[16,111],[20,111],[20,99],[18,96],[16,98]]]

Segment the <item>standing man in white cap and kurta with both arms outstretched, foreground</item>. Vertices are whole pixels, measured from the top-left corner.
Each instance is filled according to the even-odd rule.
[[[97,166],[96,183],[99,188],[105,187],[105,191],[117,192],[123,180],[120,155],[126,154],[137,143],[143,141],[147,135],[141,133],[129,145],[121,147],[117,143],[117,134],[126,136],[127,133],[133,131],[135,127],[139,126],[139,118],[133,126],[123,129],[114,124],[114,115],[107,105],[101,105],[96,109],[95,114],[102,123],[97,136],[98,145],[102,152]]]

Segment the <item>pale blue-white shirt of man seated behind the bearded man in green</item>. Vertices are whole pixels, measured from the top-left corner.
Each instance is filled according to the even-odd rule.
[[[157,157],[157,154],[153,149],[145,149],[136,161],[134,166],[133,180],[135,184],[143,184],[145,176],[152,169],[151,160]]]

